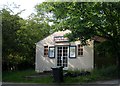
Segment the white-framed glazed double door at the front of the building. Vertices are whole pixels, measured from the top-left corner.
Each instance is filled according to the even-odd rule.
[[[68,46],[57,47],[57,66],[68,66]]]

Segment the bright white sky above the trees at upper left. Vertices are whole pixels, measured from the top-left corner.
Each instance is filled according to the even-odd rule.
[[[14,13],[25,10],[21,13],[20,17],[27,19],[31,13],[35,12],[34,6],[44,1],[45,0],[0,0],[0,10],[6,7],[5,5],[12,9]],[[19,9],[14,8],[15,5],[18,6]]]

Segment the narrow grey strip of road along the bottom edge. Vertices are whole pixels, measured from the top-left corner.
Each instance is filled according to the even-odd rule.
[[[110,80],[110,81],[97,81],[86,84],[36,84],[36,83],[7,83],[3,82],[2,86],[120,86],[120,80]]]

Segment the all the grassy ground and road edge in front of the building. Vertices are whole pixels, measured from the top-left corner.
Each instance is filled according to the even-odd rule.
[[[68,84],[70,86],[80,86],[81,84],[82,86],[119,86],[118,83],[120,80],[118,81],[115,71],[114,67],[94,70],[90,75],[84,75],[83,71],[67,71],[67,73],[75,75],[79,73],[80,75],[81,73],[84,75],[78,77],[65,76],[65,71],[64,83],[61,84],[63,86],[68,86]],[[3,72],[2,81],[2,86],[56,86],[60,84],[53,82],[54,78],[52,72],[36,73],[34,70]]]

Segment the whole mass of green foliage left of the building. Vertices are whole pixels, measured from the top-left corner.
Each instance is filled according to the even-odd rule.
[[[35,43],[50,34],[49,24],[35,14],[24,20],[2,9],[1,15],[3,70],[34,68]]]

